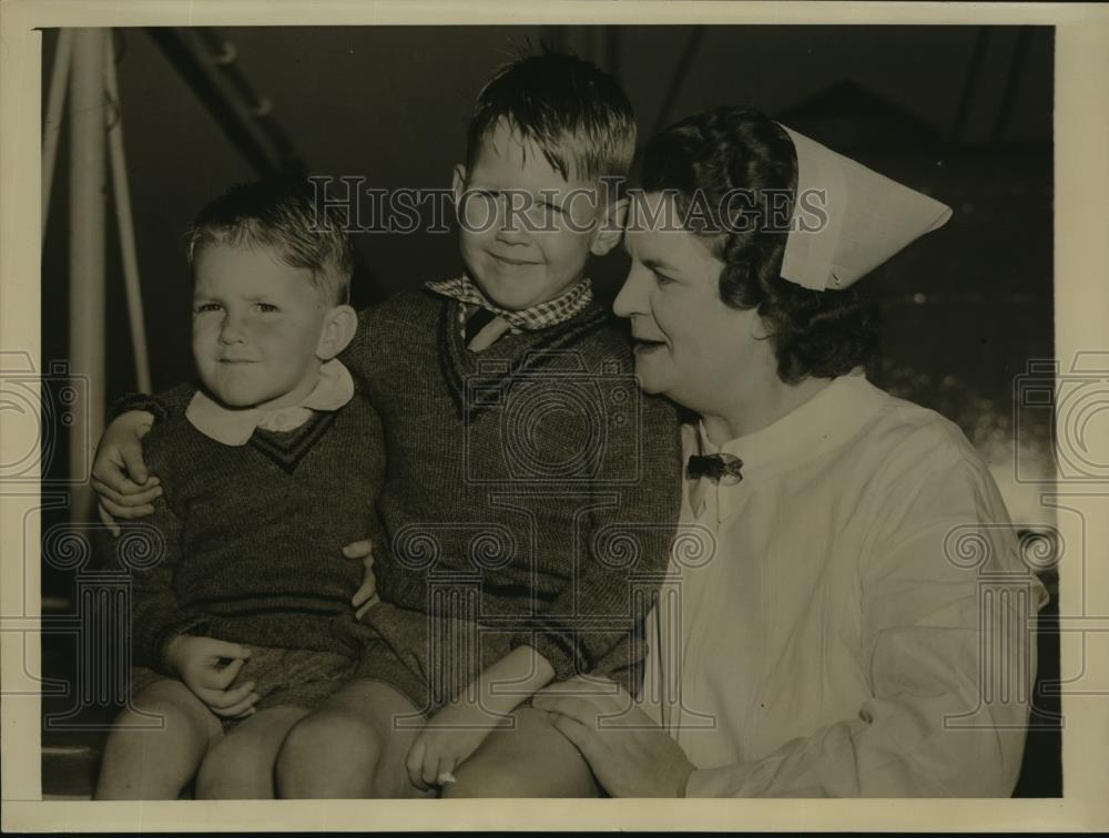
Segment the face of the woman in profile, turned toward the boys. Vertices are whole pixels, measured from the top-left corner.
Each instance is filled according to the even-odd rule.
[[[757,315],[725,306],[718,282],[724,263],[676,224],[672,196],[632,198],[624,247],[631,269],[613,303],[631,320],[635,372],[647,392],[700,413],[726,399],[753,360]]]

